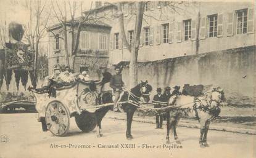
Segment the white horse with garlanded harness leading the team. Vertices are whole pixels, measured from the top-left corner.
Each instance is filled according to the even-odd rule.
[[[170,98],[168,105],[175,105],[177,108],[167,109],[167,143],[170,143],[169,133],[170,129],[173,129],[173,135],[176,143],[181,143],[178,140],[176,133],[176,126],[181,116],[188,115],[188,113],[194,114],[200,122],[200,147],[204,148],[209,146],[207,144],[207,132],[209,130],[210,120],[220,114],[220,104],[225,101],[223,89],[220,87],[215,88],[210,93],[199,97],[191,97],[188,95],[176,95]]]

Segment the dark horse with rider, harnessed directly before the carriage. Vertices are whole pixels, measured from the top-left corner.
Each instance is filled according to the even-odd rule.
[[[133,120],[134,111],[136,111],[136,109],[138,108],[140,101],[144,101],[144,102],[149,101],[150,99],[149,93],[151,91],[152,91],[152,86],[147,84],[147,81],[146,82],[141,81],[140,84],[133,87],[133,89],[131,89],[130,91],[123,92],[123,95],[120,98],[120,102],[126,102],[119,106],[122,106],[122,108],[125,110],[125,113],[126,113],[126,119],[127,119],[126,138],[128,140],[133,138],[133,136],[131,135],[131,122]],[[107,92],[102,94],[100,103],[104,104],[104,103],[112,103],[112,102],[113,101],[112,101],[111,93]],[[109,111],[110,109],[112,109],[112,106],[106,106],[106,107],[97,109],[95,111],[96,119],[97,119],[97,136],[98,137],[102,136],[101,120],[105,116],[107,111]]]

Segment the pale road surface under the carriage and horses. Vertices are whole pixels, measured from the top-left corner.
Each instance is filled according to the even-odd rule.
[[[72,118],[68,135],[56,137],[50,132],[42,132],[36,117],[31,113],[0,114],[0,135],[8,138],[7,143],[0,142],[1,158],[256,157],[255,135],[209,131],[210,147],[202,149],[198,143],[199,129],[195,128],[178,127],[182,143],[165,144],[166,129],[155,129],[154,124],[133,122],[134,140],[129,141],[125,138],[126,122],[123,120],[105,118],[102,121],[104,136],[97,138],[96,130],[80,132]],[[110,148],[114,146],[117,148]]]

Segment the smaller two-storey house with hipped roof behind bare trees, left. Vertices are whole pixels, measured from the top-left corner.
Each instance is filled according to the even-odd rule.
[[[67,49],[68,59],[71,65],[72,61],[72,41],[76,41],[78,26],[74,27],[74,35],[71,33],[71,26],[67,25]],[[111,26],[99,20],[88,21],[83,24],[80,31],[80,44],[75,57],[74,71],[78,73],[80,66],[88,66],[92,71],[92,77],[98,77],[94,74],[99,66],[107,65],[109,61],[109,34]],[[54,67],[59,65],[64,68],[66,65],[65,60],[65,44],[64,44],[64,28],[62,25],[57,24],[49,28],[49,43],[51,50],[48,54],[49,61],[49,74],[53,74]],[[73,40],[72,40],[73,38]],[[74,46],[73,46],[74,47]]]

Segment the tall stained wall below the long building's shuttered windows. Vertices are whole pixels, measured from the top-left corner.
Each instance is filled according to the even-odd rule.
[[[128,66],[123,79],[128,84]],[[226,94],[256,99],[255,46],[139,63],[138,81],[146,79],[154,93],[167,85],[213,84]]]

